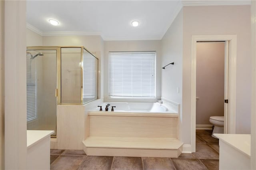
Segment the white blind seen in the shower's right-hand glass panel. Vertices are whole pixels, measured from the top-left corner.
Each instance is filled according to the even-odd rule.
[[[90,101],[97,98],[96,59],[90,53],[83,54],[83,99]]]

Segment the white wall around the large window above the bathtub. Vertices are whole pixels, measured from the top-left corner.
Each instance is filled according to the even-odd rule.
[[[156,51],[156,97],[161,97],[161,41],[105,41],[104,51],[104,98],[108,98],[109,51]]]

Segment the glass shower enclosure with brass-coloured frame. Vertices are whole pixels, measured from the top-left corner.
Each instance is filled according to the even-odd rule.
[[[83,46],[27,47],[27,129],[54,130],[57,105],[98,99],[98,59]]]

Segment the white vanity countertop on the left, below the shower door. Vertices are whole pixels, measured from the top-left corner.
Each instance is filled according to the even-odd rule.
[[[27,130],[27,148],[30,148],[53,133],[54,130]]]

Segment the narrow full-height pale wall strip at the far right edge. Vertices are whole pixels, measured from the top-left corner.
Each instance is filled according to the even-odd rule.
[[[251,169],[256,169],[256,1],[251,4],[252,102],[251,102]]]

